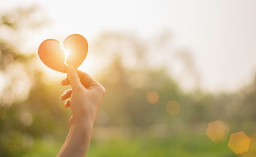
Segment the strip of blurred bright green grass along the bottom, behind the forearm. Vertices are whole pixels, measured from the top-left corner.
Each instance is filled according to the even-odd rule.
[[[35,141],[22,157],[56,156],[62,143]],[[92,139],[88,157],[236,157],[227,141],[213,143],[204,135],[171,137],[123,137],[108,140]]]

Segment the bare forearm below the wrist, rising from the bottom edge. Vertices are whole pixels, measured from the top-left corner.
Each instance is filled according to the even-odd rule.
[[[86,120],[74,120],[65,143],[57,157],[84,157],[92,136],[93,124]]]

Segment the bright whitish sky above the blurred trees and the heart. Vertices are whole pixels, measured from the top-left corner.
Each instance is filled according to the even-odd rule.
[[[31,4],[35,2],[8,0],[0,9]],[[239,89],[256,73],[255,0],[39,0],[36,4],[54,22],[36,34],[25,50],[72,33],[90,42],[104,30],[147,38],[167,29],[174,33],[177,47],[193,53],[205,90]]]

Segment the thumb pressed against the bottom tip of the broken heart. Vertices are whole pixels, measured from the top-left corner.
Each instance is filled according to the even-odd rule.
[[[80,78],[79,78],[75,68],[72,65],[69,65],[67,67],[67,76],[68,76],[68,81],[73,90],[76,90],[76,89],[82,87]]]

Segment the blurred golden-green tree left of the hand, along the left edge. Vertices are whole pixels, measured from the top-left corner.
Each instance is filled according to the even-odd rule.
[[[0,30],[15,33],[39,27],[43,20],[36,21],[35,14],[37,8],[31,7],[0,15]],[[45,84],[35,61],[34,54],[22,54],[0,37],[0,156],[20,156],[46,136],[53,141],[65,138],[62,129],[68,129],[69,112],[59,100],[65,88]]]

